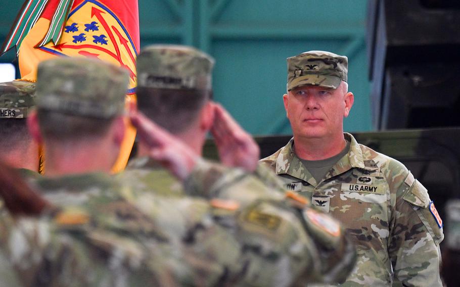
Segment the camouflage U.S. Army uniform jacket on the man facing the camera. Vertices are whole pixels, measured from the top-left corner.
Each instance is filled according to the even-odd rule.
[[[427,189],[400,162],[345,138],[348,154],[320,182],[295,155],[292,139],[262,162],[352,235],[358,261],[345,286],[388,286],[393,277],[405,286],[440,286],[444,235]]]

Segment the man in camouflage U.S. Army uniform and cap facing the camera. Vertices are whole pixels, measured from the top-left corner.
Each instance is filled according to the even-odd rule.
[[[347,57],[310,51],[287,61],[283,101],[294,137],[262,162],[352,235],[358,262],[344,286],[441,286],[442,221],[427,189],[343,132],[353,105]]]

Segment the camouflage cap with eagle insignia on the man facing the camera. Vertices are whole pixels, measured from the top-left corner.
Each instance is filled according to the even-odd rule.
[[[348,58],[325,51],[308,51],[288,58],[288,91],[305,85],[336,89],[347,81]]]

